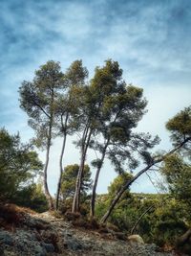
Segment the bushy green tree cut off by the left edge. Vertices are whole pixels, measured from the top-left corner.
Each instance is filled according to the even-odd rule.
[[[40,174],[42,163],[29,145],[20,142],[20,136],[0,129],[0,199],[11,200],[14,195],[32,184]]]

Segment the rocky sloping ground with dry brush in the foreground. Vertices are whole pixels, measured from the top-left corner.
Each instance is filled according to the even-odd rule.
[[[161,252],[155,244],[130,243],[119,232],[76,228],[71,221],[55,218],[50,213],[25,213],[16,219],[16,224],[12,225],[11,221],[5,224],[0,215],[0,256],[177,255]]]

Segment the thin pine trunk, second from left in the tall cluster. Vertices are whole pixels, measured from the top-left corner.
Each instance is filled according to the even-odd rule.
[[[63,156],[64,156],[64,151],[65,151],[65,146],[66,146],[66,137],[67,137],[67,134],[65,133],[64,138],[63,138],[63,143],[62,143],[62,149],[61,149],[61,153],[60,153],[60,159],[59,159],[60,173],[59,173],[59,178],[58,178],[58,182],[57,182],[57,192],[56,192],[56,199],[55,199],[55,209],[56,210],[58,210],[58,207],[59,207],[59,195],[60,195],[61,181],[62,181],[62,174],[63,174],[62,162],[63,162]]]

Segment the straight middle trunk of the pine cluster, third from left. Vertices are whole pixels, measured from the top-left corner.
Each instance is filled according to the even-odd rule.
[[[78,175],[77,175],[76,183],[75,183],[75,193],[74,193],[73,208],[72,208],[73,213],[79,212],[81,183],[82,183],[82,178],[83,178],[86,153],[87,153],[88,146],[90,143],[91,135],[92,135],[92,130],[89,128],[86,128],[86,131],[84,132],[84,136],[83,136],[84,143],[82,145],[80,166],[79,166],[79,171],[78,171]]]

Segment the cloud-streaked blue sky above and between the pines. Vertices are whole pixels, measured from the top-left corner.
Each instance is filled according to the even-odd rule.
[[[0,127],[33,136],[20,109],[18,88],[32,81],[34,70],[47,60],[59,61],[64,71],[82,59],[90,78],[104,60],[117,60],[123,78],[144,89],[148,113],[139,131],[158,134],[156,150],[171,149],[165,123],[191,104],[191,1],[188,0],[1,0],[0,1]],[[64,165],[79,162],[67,143]],[[48,181],[55,193],[61,139],[53,143]],[[88,152],[88,159],[95,157]],[[44,152],[39,152],[44,160]],[[93,177],[95,170],[93,170]],[[106,161],[97,191],[105,193],[116,174]],[[132,191],[155,193],[144,175]]]

